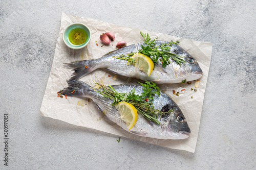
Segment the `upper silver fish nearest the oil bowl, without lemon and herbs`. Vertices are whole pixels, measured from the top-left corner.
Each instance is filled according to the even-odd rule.
[[[155,45],[168,43],[166,41],[156,41]],[[108,69],[115,74],[138,78],[141,80],[153,81],[156,83],[180,83],[184,80],[192,81],[202,77],[202,69],[195,58],[190,56],[183,48],[177,44],[170,46],[170,53],[183,57],[185,63],[182,65],[177,64],[173,59],[170,60],[165,68],[162,67],[161,60],[155,64],[155,67],[150,76],[147,76],[145,72],[135,67],[133,64],[127,65],[127,60],[116,59],[114,57],[127,53],[135,53],[141,49],[141,45],[146,45],[144,42],[138,44],[132,44],[122,47],[118,50],[110,52],[101,58],[95,60],[83,60],[72,63],[66,63],[69,68],[74,70],[72,74],[73,80],[80,79],[81,77],[89,74],[95,69],[104,68]]]

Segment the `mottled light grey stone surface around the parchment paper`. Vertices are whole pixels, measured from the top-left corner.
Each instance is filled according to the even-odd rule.
[[[0,169],[256,169],[255,1],[0,4]],[[214,43],[194,154],[39,115],[62,12]]]

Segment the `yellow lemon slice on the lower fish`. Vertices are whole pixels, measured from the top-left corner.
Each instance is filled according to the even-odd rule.
[[[124,122],[125,126],[129,130],[132,129],[138,118],[136,108],[127,102],[119,102],[115,105],[115,107],[119,111],[121,120]]]

